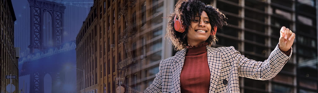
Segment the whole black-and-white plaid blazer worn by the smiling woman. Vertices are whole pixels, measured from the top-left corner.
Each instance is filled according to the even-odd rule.
[[[256,80],[268,80],[276,76],[290,56],[278,48],[264,62],[248,59],[231,47],[206,46],[210,68],[210,93],[239,93],[239,76]],[[159,72],[144,93],[180,93],[180,74],[187,49],[160,62]],[[138,91],[126,87],[128,93]]]

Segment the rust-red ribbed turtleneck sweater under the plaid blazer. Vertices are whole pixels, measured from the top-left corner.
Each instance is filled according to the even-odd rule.
[[[183,69],[180,75],[182,93],[208,93],[210,88],[210,69],[206,45],[187,46]]]

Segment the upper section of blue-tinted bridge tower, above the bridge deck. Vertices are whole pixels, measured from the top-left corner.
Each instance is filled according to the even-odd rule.
[[[52,17],[52,45],[57,46],[63,40],[63,15],[65,6],[45,0],[28,0],[30,3],[30,53],[35,49],[45,49],[43,40],[43,16],[48,12]]]

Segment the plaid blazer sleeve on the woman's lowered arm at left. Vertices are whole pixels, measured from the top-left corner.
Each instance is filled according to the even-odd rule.
[[[125,93],[161,93],[162,92],[162,70],[161,67],[163,65],[163,60],[161,60],[160,64],[159,64],[159,72],[156,74],[156,77],[154,79],[154,81],[152,82],[152,84],[150,84],[150,86],[148,88],[146,88],[146,90],[144,90],[143,92],[139,92],[135,89],[130,88],[129,86],[126,86],[126,91]]]

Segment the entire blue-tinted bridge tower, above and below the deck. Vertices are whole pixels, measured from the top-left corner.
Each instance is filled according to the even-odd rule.
[[[46,12],[51,15],[52,20],[52,47],[59,46],[63,40],[63,15],[66,6],[61,3],[45,1],[45,0],[28,0],[30,3],[30,53],[35,50],[44,50],[44,14]],[[51,28],[50,28],[51,29]],[[52,77],[52,93],[60,93],[62,91],[54,90],[62,87],[54,86],[63,82],[63,73],[58,71],[45,70],[30,71],[30,93],[44,93],[44,76],[49,74]],[[62,75],[62,76],[61,76]]]

